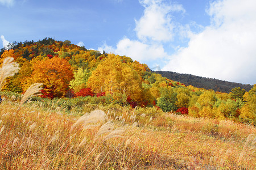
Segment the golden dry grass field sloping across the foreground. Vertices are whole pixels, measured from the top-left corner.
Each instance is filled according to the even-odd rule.
[[[0,163],[3,169],[254,169],[254,126],[192,118],[154,110],[98,106],[108,118],[83,129],[75,125],[84,112],[66,114],[61,108],[0,105]],[[141,116],[141,114],[146,115]],[[150,118],[152,116],[152,120]],[[14,120],[15,118],[15,120]],[[13,121],[14,120],[14,121]],[[106,121],[125,133],[96,134]],[[134,122],[138,122],[138,126]],[[12,125],[12,122],[14,124]],[[73,127],[73,130],[71,130]],[[105,140],[105,141],[104,141]]]

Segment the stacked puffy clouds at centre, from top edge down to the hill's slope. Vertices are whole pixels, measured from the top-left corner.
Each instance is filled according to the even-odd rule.
[[[159,61],[159,59],[168,57],[161,42],[167,42],[173,38],[175,24],[172,23],[171,12],[183,13],[184,8],[162,0],[139,2],[145,9],[142,18],[135,20],[134,31],[138,39],[131,40],[123,37],[115,47],[104,43],[98,50],[129,56],[139,62]]]

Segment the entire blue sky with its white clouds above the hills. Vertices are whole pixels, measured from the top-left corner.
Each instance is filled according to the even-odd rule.
[[[0,16],[0,48],[52,37],[150,68],[256,83],[255,0],[0,0]]]

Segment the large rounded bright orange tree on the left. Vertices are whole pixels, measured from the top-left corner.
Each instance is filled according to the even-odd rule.
[[[63,58],[44,58],[32,65],[29,83],[43,83],[45,91],[53,91],[55,97],[65,96],[70,80],[73,78],[72,67]]]

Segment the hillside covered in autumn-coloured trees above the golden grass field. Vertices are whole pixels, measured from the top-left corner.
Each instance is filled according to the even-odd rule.
[[[248,92],[235,87],[230,93],[186,86],[185,80],[154,73],[130,57],[51,38],[14,43],[0,54],[1,94],[23,94],[40,83],[41,94],[34,100],[60,100],[59,107],[68,110],[84,103],[117,104],[256,125],[256,84]],[[204,80],[204,84],[212,83]]]

